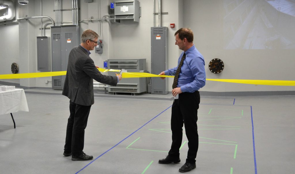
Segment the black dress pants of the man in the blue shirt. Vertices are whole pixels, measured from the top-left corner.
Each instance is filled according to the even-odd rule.
[[[200,104],[199,91],[194,93],[183,92],[178,94],[172,105],[171,130],[172,145],[169,156],[178,158],[179,148],[182,142],[182,127],[184,123],[186,137],[189,140],[187,163],[196,163],[196,155],[199,147],[199,135],[197,130],[198,109]]]

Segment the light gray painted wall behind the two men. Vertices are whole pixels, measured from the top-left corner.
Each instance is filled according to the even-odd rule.
[[[16,1],[15,1],[16,2]],[[80,20],[101,18],[108,14],[110,1],[94,0],[93,3],[79,2]],[[157,5],[157,1],[156,1]],[[30,0],[27,6],[17,5],[17,17],[40,16],[40,0]],[[54,1],[42,0],[42,15],[54,16]],[[150,71],[150,27],[153,26],[153,1],[140,0],[140,21],[111,23],[102,21],[104,41],[103,54],[91,51],[97,66],[103,67],[106,59],[147,59]],[[71,1],[63,0],[63,9],[71,9]],[[156,6],[156,11],[158,8]],[[181,27],[194,31],[194,44],[204,55],[208,79],[266,79],[294,80],[295,65],[294,16],[277,11],[264,0],[162,0],[162,26],[168,26],[168,67],[177,66],[181,51],[175,45],[174,33]],[[71,11],[63,12],[63,21],[71,21]],[[19,64],[20,73],[37,71],[36,37],[41,36],[41,19],[21,21],[15,25],[0,25],[0,74],[10,74],[13,62]],[[48,23],[43,19],[43,24]],[[175,23],[175,28],[170,28]],[[66,25],[66,24],[65,24]],[[290,26],[291,25],[291,26]],[[50,26],[50,25],[49,25]],[[155,16],[158,26],[158,16]],[[47,26],[48,27],[48,26]],[[98,34],[99,22],[80,23],[81,33],[93,29]],[[291,31],[291,32],[290,32]],[[46,30],[50,37],[50,30]],[[209,71],[211,59],[219,58],[225,63],[221,74]],[[160,73],[160,72],[159,72]],[[51,87],[50,77],[35,79],[9,79],[5,82],[20,83],[24,87]],[[168,79],[171,91],[173,79]],[[235,84],[207,81],[201,91],[294,91],[294,87]]]

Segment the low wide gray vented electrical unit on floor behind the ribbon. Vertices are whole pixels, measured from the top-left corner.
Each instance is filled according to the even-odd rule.
[[[146,70],[146,59],[108,59],[108,69],[124,69],[127,72],[140,72]],[[108,71],[108,75],[116,75]],[[109,92],[142,93],[147,91],[147,79],[122,78],[117,86],[110,86]]]

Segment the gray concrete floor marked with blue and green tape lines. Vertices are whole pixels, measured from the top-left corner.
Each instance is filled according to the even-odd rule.
[[[42,91],[44,94],[42,94]],[[172,97],[96,92],[85,130],[92,161],[63,156],[69,100],[61,91],[25,90],[30,112],[0,115],[0,173],[179,173],[158,164],[171,146]],[[198,174],[294,173],[295,96],[201,96]]]

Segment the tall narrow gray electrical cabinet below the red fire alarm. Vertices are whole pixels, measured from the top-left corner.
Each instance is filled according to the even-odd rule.
[[[168,69],[168,27],[151,27],[151,73]],[[151,78],[152,94],[168,94],[167,78]]]

